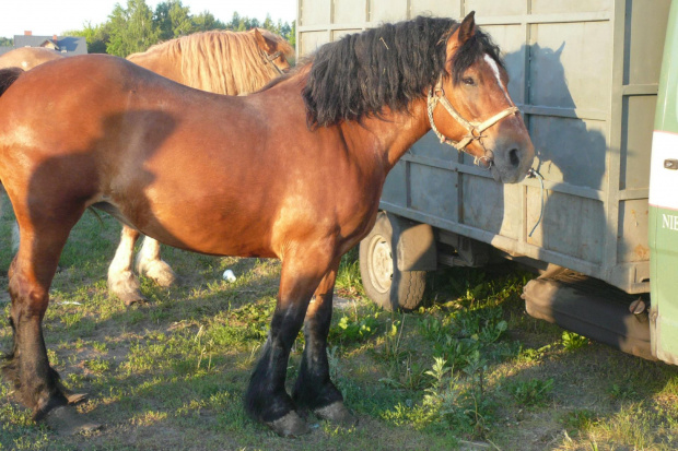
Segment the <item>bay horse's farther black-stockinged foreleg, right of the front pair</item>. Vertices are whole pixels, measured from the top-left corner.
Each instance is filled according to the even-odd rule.
[[[343,405],[343,396],[329,377],[327,334],[332,318],[332,296],[339,259],[316,289],[304,321],[305,347],[292,399],[323,419],[353,426],[358,419]]]

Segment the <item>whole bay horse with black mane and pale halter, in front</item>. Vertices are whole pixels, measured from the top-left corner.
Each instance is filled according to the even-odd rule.
[[[297,408],[354,424],[326,353],[341,254],[369,233],[386,175],[432,124],[499,180],[525,176],[534,149],[506,82],[472,14],[347,36],[245,97],[191,90],[106,56],[21,74],[0,96],[0,179],[21,227],[4,364],[16,397],[36,419],[70,415],[70,426],[89,426],[69,414],[72,396],[49,365],[42,321],[69,232],[93,206],[177,248],[281,259],[245,408],[283,436],[309,430]],[[45,120],[54,116],[59,127]],[[290,395],[288,358],[304,322]]]

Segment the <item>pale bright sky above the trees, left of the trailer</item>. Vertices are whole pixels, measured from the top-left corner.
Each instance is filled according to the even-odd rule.
[[[163,0],[145,0],[151,10]],[[69,29],[82,29],[104,23],[116,3],[124,8],[127,0],[0,0],[0,36],[13,37],[31,31],[36,36],[60,35]],[[296,0],[182,0],[191,14],[211,12],[222,22],[229,22],[233,13],[258,19],[267,13],[273,22],[291,23],[296,19]]]

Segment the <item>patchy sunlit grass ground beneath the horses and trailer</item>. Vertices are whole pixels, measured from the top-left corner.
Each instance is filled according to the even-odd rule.
[[[0,309],[9,314],[11,213],[0,221]],[[0,450],[583,450],[678,448],[678,371],[525,314],[531,277],[503,265],[429,276],[423,307],[386,312],[364,297],[355,251],[342,260],[328,357],[356,427],[311,420],[278,438],[242,397],[268,333],[280,264],[165,249],[182,283],[142,281],[143,305],[112,299],[118,226],[86,214],[60,261],[44,321],[48,355],[79,410],[105,428],[62,437],[0,382]],[[226,283],[221,275],[236,275]],[[9,327],[0,349],[9,349]],[[288,376],[296,376],[303,337]]]

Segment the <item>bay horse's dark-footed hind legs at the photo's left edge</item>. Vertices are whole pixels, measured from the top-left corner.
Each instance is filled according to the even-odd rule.
[[[43,217],[37,227],[20,221],[21,244],[9,271],[13,348],[2,365],[2,372],[13,383],[17,400],[33,411],[33,418],[46,419],[71,434],[92,430],[98,425],[75,415],[73,407],[68,406],[69,401],[80,400],[82,395],[63,391],[58,372],[49,365],[42,321],[59,256],[81,215],[82,210],[79,210],[65,214],[63,222]]]

